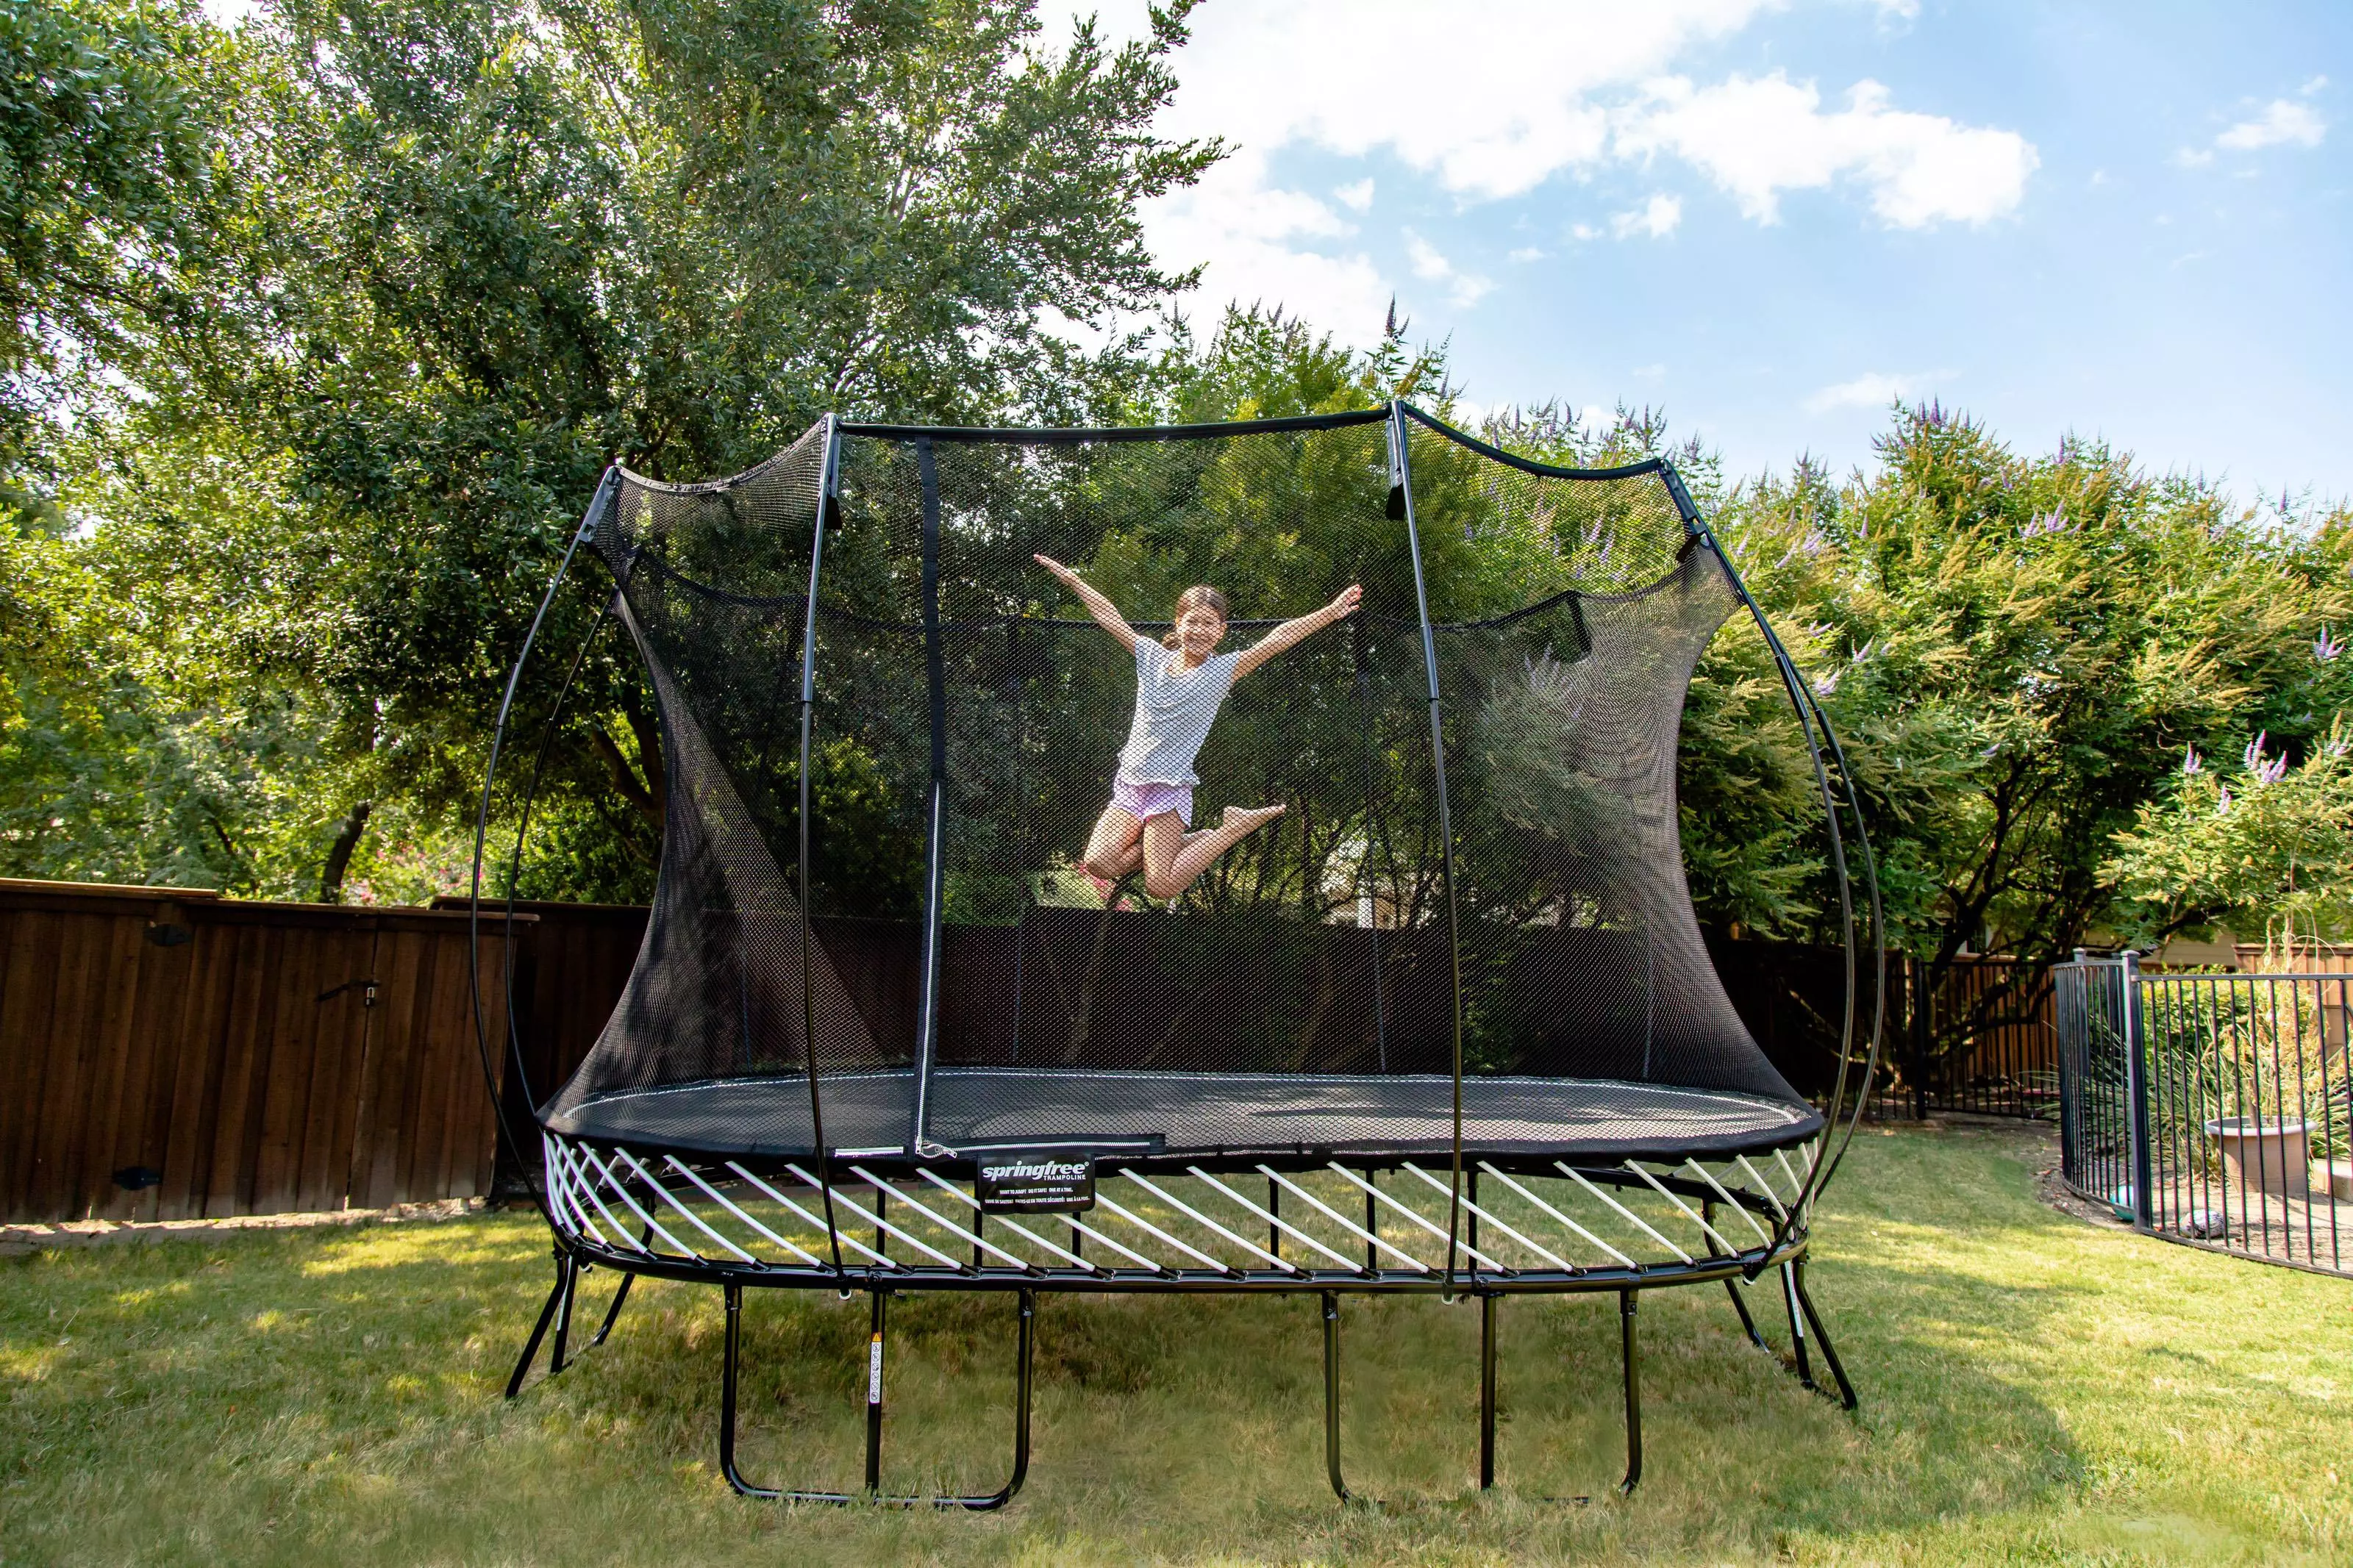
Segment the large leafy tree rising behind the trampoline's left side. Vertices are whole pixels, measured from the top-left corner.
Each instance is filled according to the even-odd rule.
[[[209,35],[235,202],[174,353],[82,433],[61,501],[85,578],[184,578],[160,595],[181,679],[299,710],[299,820],[271,818],[268,867],[212,870],[332,898],[433,858],[607,461],[732,473],[826,409],[1106,407],[1144,369],[1118,324],[1186,284],[1136,205],[1219,153],[1148,129],[1186,9],[1120,49],[1042,38],[1028,0],[285,0]],[[562,607],[558,651],[591,607]],[[558,882],[626,891],[661,802],[614,649],[576,715],[553,842],[621,851]]]

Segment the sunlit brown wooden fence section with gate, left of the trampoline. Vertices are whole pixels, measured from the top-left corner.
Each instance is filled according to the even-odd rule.
[[[0,879],[0,1218],[485,1192],[466,940],[449,912]]]

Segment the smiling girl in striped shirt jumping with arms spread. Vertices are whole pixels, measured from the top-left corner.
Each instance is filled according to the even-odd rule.
[[[1151,642],[1127,625],[1127,618],[1075,571],[1045,555],[1038,564],[1078,595],[1094,623],[1120,639],[1136,661],[1136,719],[1120,750],[1120,771],[1111,780],[1111,804],[1087,839],[1087,875],[1108,886],[1144,867],[1144,891],[1153,898],[1176,898],[1217,865],[1217,858],[1282,816],[1282,806],[1226,806],[1217,827],[1186,832],[1193,825],[1193,757],[1209,738],[1209,724],[1226,703],[1233,682],[1242,679],[1282,649],[1355,614],[1365,595],[1348,585],[1322,609],[1285,621],[1247,649],[1219,654],[1226,637],[1226,595],[1214,588],[1186,588],[1176,597],[1176,625],[1162,642]]]

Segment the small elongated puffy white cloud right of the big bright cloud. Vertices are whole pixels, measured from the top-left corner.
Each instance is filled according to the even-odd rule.
[[[1871,80],[1847,92],[1845,108],[1824,113],[1812,82],[1779,71],[1718,87],[1678,75],[1645,87],[1614,146],[1699,165],[1760,223],[1779,219],[1784,190],[1838,179],[1868,186],[1871,209],[1894,228],[1986,223],[2017,212],[2026,176],[2042,162],[2024,136],[1887,103],[1887,89]]]

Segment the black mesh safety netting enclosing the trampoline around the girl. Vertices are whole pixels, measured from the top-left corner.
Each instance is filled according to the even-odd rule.
[[[668,825],[645,950],[548,1124],[809,1152],[807,1020],[833,1150],[1442,1150],[1459,985],[1473,1147],[1809,1131],[1682,879],[1675,731],[1737,604],[1722,562],[1657,465],[1565,477],[1405,428],[1452,884],[1381,411],[1141,440],[849,425],[824,529],[824,428],[720,484],[624,475],[595,548],[661,710]],[[1193,827],[1285,811],[1174,900],[1141,877],[1106,898],[1082,863],[1136,663],[1040,552],[1146,639],[1221,588],[1224,649],[1362,585],[1233,686]]]

